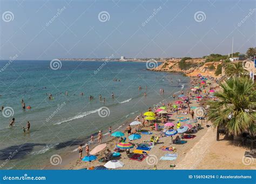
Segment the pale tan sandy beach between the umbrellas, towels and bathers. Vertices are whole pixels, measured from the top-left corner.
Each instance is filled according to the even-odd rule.
[[[191,79],[195,79],[191,77]],[[210,87],[215,87],[218,84],[211,81],[212,84]],[[209,86],[206,91],[208,91]],[[186,91],[185,93],[186,94]],[[177,100],[177,98],[176,98]],[[174,100],[175,101],[175,100]],[[172,101],[172,103],[174,102]],[[190,101],[190,107],[198,107],[202,104],[199,104],[197,100]],[[165,102],[167,104],[169,102]],[[191,115],[177,115],[173,114],[170,121],[177,122],[179,121],[178,117],[190,118]],[[180,122],[181,123],[181,122]],[[216,141],[216,130],[212,128],[211,122],[208,122],[207,119],[204,122],[198,121],[203,127],[203,129],[198,130],[196,133],[193,133],[196,137],[192,139],[183,139],[187,142],[185,144],[171,144],[170,137],[161,137],[160,131],[151,131],[152,135],[160,137],[159,143],[154,144],[151,150],[148,153],[148,156],[143,161],[139,162],[136,160],[131,160],[132,151],[136,148],[136,145],[140,143],[149,143],[149,140],[152,135],[142,135],[141,139],[136,139],[130,141],[130,143],[135,146],[130,149],[130,155],[127,155],[124,150],[121,150],[120,157],[112,158],[120,160],[124,163],[124,167],[118,169],[153,169],[156,165],[157,169],[253,169],[255,168],[255,164],[252,165],[244,165],[242,164],[242,157],[245,152],[245,148],[233,146],[232,142],[229,140],[221,140]],[[123,125],[121,130],[124,131],[129,123]],[[181,125],[185,124],[182,122]],[[160,123],[161,126],[163,124]],[[192,124],[194,125],[194,124]],[[134,126],[132,127],[134,128]],[[142,128],[143,130],[150,130],[149,126]],[[176,129],[176,126],[174,126]],[[127,132],[125,132],[125,137],[128,139]],[[176,136],[174,136],[176,137]],[[103,138],[103,143],[107,144],[106,148],[109,150],[113,150],[116,142],[119,138],[110,137],[110,135],[106,135]],[[95,141],[97,143],[97,140]],[[89,145],[90,150],[98,144]],[[163,151],[160,147],[174,147],[177,151]],[[218,147],[218,149],[216,149]],[[105,148],[105,149],[106,149]],[[85,152],[85,151],[84,151]],[[83,152],[83,154],[85,154]],[[176,160],[160,160],[162,156],[166,153],[176,153],[178,155]],[[104,158],[104,151],[101,151],[96,154],[97,160],[91,162],[84,162],[78,159],[78,152],[75,151],[72,154],[66,155],[63,158],[63,163],[58,166],[59,169],[84,169],[93,166],[104,165],[105,163],[100,163],[98,160],[100,158]],[[83,155],[84,157],[84,155]],[[176,167],[170,167],[170,165],[176,165]],[[49,166],[46,167],[48,169],[56,169],[57,166]]]

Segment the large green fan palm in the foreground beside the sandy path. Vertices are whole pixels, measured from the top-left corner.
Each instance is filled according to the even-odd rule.
[[[231,77],[220,84],[214,95],[219,101],[210,101],[208,119],[215,128],[225,128],[229,135],[256,131],[256,85],[245,77]]]

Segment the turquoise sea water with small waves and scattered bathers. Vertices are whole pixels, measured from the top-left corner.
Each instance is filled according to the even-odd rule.
[[[0,61],[0,67],[6,63]],[[102,64],[62,61],[62,67],[53,70],[50,61],[14,61],[4,67],[0,73],[0,105],[13,109],[10,111],[13,116],[0,116],[2,169],[43,168],[52,154],[71,152],[91,134],[99,130],[105,134],[109,126],[114,131],[140,112],[168,98],[171,100],[173,93],[189,87],[188,77],[151,72],[146,70],[145,62],[112,61],[100,67]],[[142,90],[138,90],[139,86]],[[164,94],[159,94],[160,88]],[[46,93],[51,93],[54,99],[49,100]],[[22,109],[22,98],[31,106],[30,110]],[[9,128],[13,117],[15,126]],[[27,121],[31,130],[24,134],[22,127]]]

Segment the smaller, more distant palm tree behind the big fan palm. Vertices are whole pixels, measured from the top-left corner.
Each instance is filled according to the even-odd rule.
[[[225,74],[228,77],[240,76],[241,74],[248,73],[248,71],[242,66],[241,62],[230,63],[226,65]]]

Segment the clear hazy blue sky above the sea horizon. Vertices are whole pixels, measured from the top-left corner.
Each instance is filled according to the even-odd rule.
[[[0,0],[0,60],[201,57],[255,47],[256,1]]]

